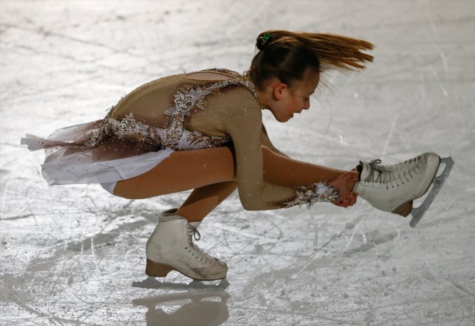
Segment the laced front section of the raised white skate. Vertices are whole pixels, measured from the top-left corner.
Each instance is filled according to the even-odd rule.
[[[385,185],[386,189],[400,186],[417,174],[421,162],[421,155],[391,166],[381,165],[381,159],[373,159],[369,162],[370,171],[364,182]]]

